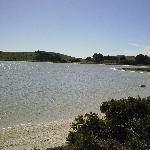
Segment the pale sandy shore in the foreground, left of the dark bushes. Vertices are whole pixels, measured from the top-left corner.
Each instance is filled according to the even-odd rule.
[[[41,124],[20,124],[0,129],[1,150],[31,150],[65,144],[73,119]]]

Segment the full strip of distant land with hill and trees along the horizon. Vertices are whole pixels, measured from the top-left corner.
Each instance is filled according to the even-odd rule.
[[[150,57],[139,54],[137,56],[103,56],[101,53],[94,53],[92,57],[75,58],[68,55],[35,51],[35,52],[2,52],[0,61],[37,61],[56,63],[80,63],[80,64],[116,64],[116,65],[150,65]]]

